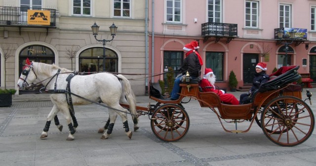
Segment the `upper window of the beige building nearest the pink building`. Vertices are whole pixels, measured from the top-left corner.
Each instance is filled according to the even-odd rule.
[[[114,0],[114,16],[130,17],[130,0]]]

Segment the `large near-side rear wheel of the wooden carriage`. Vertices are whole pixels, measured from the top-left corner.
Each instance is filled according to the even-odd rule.
[[[262,111],[261,126],[265,135],[280,146],[295,146],[313,133],[315,118],[306,102],[291,96],[271,100]]]

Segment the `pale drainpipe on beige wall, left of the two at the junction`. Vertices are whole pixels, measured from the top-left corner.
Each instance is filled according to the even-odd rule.
[[[145,95],[148,96],[148,73],[149,73],[149,61],[148,61],[148,0],[145,2]]]

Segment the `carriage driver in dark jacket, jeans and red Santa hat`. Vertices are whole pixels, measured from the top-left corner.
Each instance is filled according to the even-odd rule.
[[[187,71],[189,72],[192,79],[195,79],[199,77],[199,71],[201,70],[201,66],[203,65],[202,58],[198,53],[196,53],[196,50],[198,46],[196,41],[192,41],[189,44],[186,44],[183,47],[184,53],[186,58],[183,60],[183,65],[178,70],[181,72],[176,79],[174,80],[174,86],[171,91],[170,98],[166,100],[177,100],[179,98],[179,92],[180,92],[180,83],[182,82],[182,75],[185,75]]]

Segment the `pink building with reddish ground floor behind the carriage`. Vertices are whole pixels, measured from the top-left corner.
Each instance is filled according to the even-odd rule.
[[[228,87],[231,70],[237,89],[252,83],[259,62],[268,74],[299,65],[316,81],[315,15],[316,0],[149,0],[149,73],[177,69],[183,46],[198,40],[202,73],[211,67],[219,87]]]

